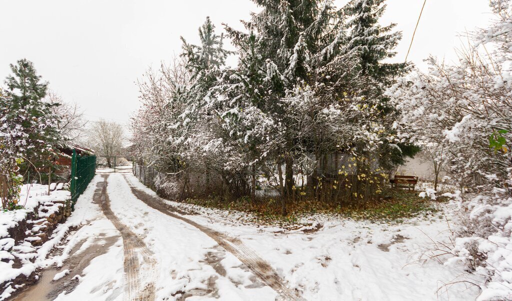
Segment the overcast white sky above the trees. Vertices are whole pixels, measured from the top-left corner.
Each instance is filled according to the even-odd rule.
[[[423,0],[387,4],[382,24],[395,22],[402,31],[395,60],[403,61]],[[458,33],[488,24],[487,4],[427,0],[409,59],[423,69],[429,54],[454,60]],[[221,23],[241,29],[239,20],[258,8],[250,0],[3,0],[0,11],[2,85],[9,64],[27,58],[57,94],[79,103],[88,119],[127,124],[139,107],[135,81],[148,66],[180,53],[180,35],[197,42],[206,16],[219,31]]]

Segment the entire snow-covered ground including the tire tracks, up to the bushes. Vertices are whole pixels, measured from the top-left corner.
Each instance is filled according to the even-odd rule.
[[[129,170],[96,175],[56,231],[59,239],[81,226],[44,261],[61,267],[47,277],[47,291],[60,286],[59,300],[274,300],[290,293],[307,300],[467,300],[479,293],[463,282],[482,281],[478,276],[429,259],[434,242],[450,235],[443,215],[394,225],[317,216],[312,226],[287,230],[218,210],[168,213],[141,192],[155,201]],[[191,212],[190,205],[165,203]],[[75,267],[73,258],[93,247],[103,249],[87,267]]]

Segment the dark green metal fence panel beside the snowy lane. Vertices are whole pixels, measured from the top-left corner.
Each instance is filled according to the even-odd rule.
[[[96,173],[96,156],[79,156],[73,150],[71,157],[71,210],[78,197],[86,190]]]

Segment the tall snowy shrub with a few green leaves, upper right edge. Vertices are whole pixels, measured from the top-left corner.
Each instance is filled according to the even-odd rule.
[[[502,186],[512,159],[510,5],[493,4],[500,20],[473,37],[474,47],[461,53],[459,64],[431,57],[428,74],[416,72],[387,91],[401,113],[396,140],[434,150],[472,190]]]

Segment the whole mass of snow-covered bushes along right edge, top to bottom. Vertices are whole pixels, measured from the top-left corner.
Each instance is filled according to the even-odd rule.
[[[512,298],[512,2],[491,1],[490,28],[468,37],[458,64],[429,58],[387,91],[397,109],[398,141],[420,143],[445,162],[460,191],[453,257],[484,275],[480,300]],[[463,192],[463,193],[461,193]]]

